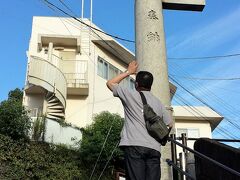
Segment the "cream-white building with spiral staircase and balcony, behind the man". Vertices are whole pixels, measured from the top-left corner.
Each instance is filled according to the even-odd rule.
[[[99,29],[87,19],[82,21]],[[47,128],[47,139],[59,142],[59,132],[71,138],[68,131],[50,123],[51,119],[85,127],[101,111],[123,116],[121,102],[107,89],[106,80],[125,71],[134,54],[113,38],[71,18],[33,17],[27,56],[24,105],[33,117],[46,115],[51,126]],[[123,83],[134,88],[133,78]],[[176,87],[170,87],[174,94]],[[197,107],[206,121],[187,108],[174,107],[177,133],[211,137],[222,117],[206,107]]]

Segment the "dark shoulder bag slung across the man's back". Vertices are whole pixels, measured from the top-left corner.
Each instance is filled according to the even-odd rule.
[[[143,92],[139,93],[143,102],[143,114],[147,131],[156,141],[165,146],[171,128],[168,129],[167,125],[163,122],[163,118],[158,116],[152,107],[147,104],[147,100]]]

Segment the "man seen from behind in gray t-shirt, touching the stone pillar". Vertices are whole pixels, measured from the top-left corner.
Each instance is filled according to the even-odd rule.
[[[132,61],[126,72],[107,81],[107,87],[115,97],[120,98],[125,121],[121,132],[120,147],[124,152],[126,180],[160,180],[161,145],[148,134],[143,116],[140,91],[155,113],[163,117],[169,127],[172,119],[160,100],[151,92],[153,75],[147,71],[137,73],[138,64]],[[128,89],[119,83],[130,75],[136,75],[135,89]]]

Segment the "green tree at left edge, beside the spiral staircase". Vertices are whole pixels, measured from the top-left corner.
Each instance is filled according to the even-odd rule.
[[[8,99],[0,103],[0,133],[13,139],[28,139],[30,118],[22,105],[22,91],[10,91]]]

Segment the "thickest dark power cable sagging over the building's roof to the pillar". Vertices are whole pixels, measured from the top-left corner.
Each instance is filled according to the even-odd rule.
[[[78,19],[78,18],[72,16],[71,14],[67,13],[66,11],[62,10],[61,8],[59,8],[58,6],[56,6],[55,4],[49,2],[48,0],[42,0],[42,1],[45,1],[48,5],[54,7],[55,9],[61,11],[63,14],[65,14],[65,15],[67,15],[67,16],[73,18],[73,19],[75,19],[76,21],[78,21],[78,22],[84,24],[85,26],[91,28],[92,30],[95,30],[95,31],[101,32],[101,33],[103,33],[103,34],[105,34],[105,35],[107,35],[107,36],[113,37],[113,38],[115,38],[115,39],[119,39],[119,40],[122,40],[122,41],[135,43],[135,41],[128,40],[128,39],[125,39],[125,38],[121,38],[121,37],[119,37],[119,36],[112,35],[112,34],[110,34],[110,33],[106,33],[106,32],[104,32],[104,31],[101,31],[100,29],[97,29],[97,28],[95,28],[95,27],[92,27],[92,26],[88,25],[87,23],[81,21],[80,19]],[[66,4],[65,4],[65,5],[66,5]]]

